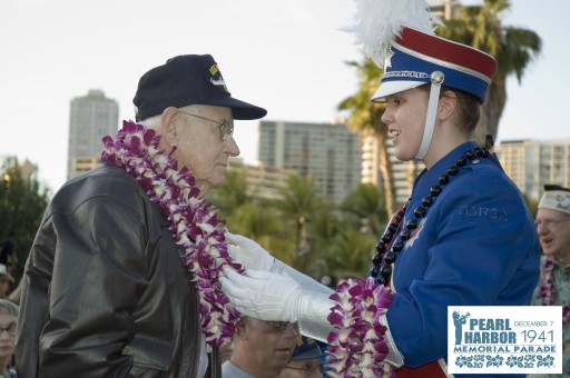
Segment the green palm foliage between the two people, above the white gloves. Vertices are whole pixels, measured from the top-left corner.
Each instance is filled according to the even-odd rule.
[[[229,171],[225,183],[208,197],[230,232],[254,239],[314,278],[366,273],[385,220],[377,187],[358,187],[343,206],[336,206],[324,198],[312,177],[287,177],[275,200],[247,195],[244,182],[244,171]]]

